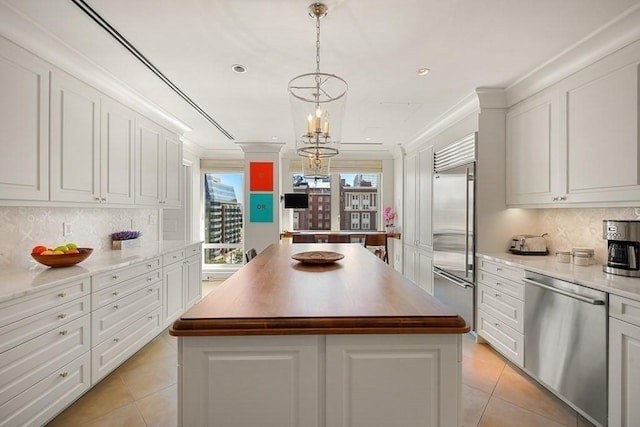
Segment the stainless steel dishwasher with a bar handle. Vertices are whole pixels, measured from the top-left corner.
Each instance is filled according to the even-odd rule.
[[[525,272],[524,367],[579,410],[607,425],[607,294]]]

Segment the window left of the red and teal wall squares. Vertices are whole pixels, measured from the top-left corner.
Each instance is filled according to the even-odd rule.
[[[205,265],[242,264],[242,173],[204,174]]]

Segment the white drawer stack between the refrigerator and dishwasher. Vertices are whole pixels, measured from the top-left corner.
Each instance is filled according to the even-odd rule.
[[[524,367],[524,270],[478,259],[476,331],[505,357]]]

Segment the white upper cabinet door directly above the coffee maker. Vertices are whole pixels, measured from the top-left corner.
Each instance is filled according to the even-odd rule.
[[[565,84],[567,201],[640,200],[638,69],[587,70]]]

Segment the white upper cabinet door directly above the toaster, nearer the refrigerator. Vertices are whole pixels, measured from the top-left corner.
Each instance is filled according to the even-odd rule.
[[[507,204],[548,204],[559,197],[555,99],[534,97],[507,113]]]

